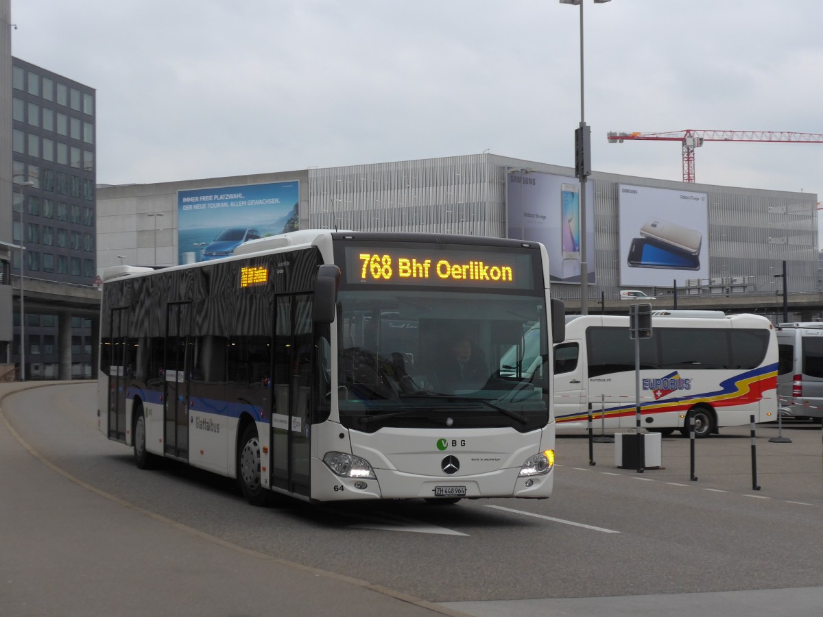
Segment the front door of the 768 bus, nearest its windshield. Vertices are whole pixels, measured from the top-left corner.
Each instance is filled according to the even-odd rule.
[[[311,295],[277,298],[272,413],[272,488],[310,494],[313,383]]]

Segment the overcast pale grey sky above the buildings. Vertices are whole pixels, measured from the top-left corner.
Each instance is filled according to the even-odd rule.
[[[681,179],[677,142],[823,133],[820,0],[584,0],[593,168]],[[573,165],[579,7],[557,0],[12,0],[12,53],[97,90],[100,183],[489,151]],[[823,196],[823,143],[706,143],[701,183]]]

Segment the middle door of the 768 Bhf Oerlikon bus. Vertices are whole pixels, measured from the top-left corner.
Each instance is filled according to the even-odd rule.
[[[164,452],[188,460],[188,383],[191,374],[191,304],[169,304],[163,355]]]

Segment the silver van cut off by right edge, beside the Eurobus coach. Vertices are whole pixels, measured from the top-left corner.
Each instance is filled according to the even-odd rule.
[[[780,323],[777,394],[795,418],[823,421],[823,322]]]

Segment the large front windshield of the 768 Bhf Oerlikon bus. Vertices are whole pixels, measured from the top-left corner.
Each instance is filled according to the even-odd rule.
[[[342,290],[338,401],[350,429],[509,426],[549,420],[542,296]],[[341,318],[342,317],[342,318]]]

